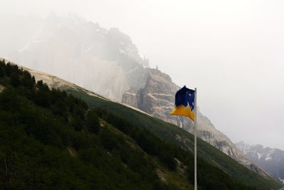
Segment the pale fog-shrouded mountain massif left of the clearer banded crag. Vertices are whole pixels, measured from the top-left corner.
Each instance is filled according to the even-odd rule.
[[[16,36],[22,36],[17,41],[25,43],[10,43],[15,45],[11,45],[10,51],[4,48],[1,52],[4,57],[66,78],[114,100],[121,100],[131,86],[143,86],[146,72],[143,68],[148,67],[148,59],[138,53],[131,38],[118,28],[107,30],[75,14],[66,17],[50,14],[46,19],[35,20],[26,22],[25,27],[16,21],[6,26],[5,33],[16,30]],[[7,38],[14,41],[13,35],[0,32],[0,40],[1,36],[6,37],[3,41]],[[94,85],[94,81],[98,83]]]

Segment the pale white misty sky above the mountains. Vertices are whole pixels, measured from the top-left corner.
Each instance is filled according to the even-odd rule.
[[[233,142],[284,149],[284,1],[0,0],[0,7],[0,16],[71,11],[117,27],[151,67],[197,87],[200,110]]]

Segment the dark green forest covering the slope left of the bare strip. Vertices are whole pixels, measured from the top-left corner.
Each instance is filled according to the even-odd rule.
[[[82,100],[16,65],[0,70],[1,189],[170,189]]]

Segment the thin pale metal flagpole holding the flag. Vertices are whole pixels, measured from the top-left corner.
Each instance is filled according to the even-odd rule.
[[[197,190],[197,88],[195,88],[195,190]]]

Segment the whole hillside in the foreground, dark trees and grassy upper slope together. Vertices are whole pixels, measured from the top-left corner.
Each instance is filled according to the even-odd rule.
[[[70,189],[71,186],[92,189],[96,185],[92,180],[101,180],[97,185],[104,184],[110,175],[113,181],[104,184],[102,189],[107,186],[114,189],[129,189],[130,186],[137,186],[137,189],[145,186],[148,186],[146,189],[157,186],[158,189],[192,189],[190,133],[71,83],[57,83],[58,88],[61,85],[67,94],[81,97],[95,109],[90,111],[81,100],[58,90],[49,90],[41,82],[35,84],[35,80],[27,72],[18,70],[16,65],[1,63],[1,67],[0,73],[5,73],[0,80],[5,88],[1,93],[1,134],[4,135],[1,139],[9,142],[6,143],[9,146],[1,147],[1,159],[13,160],[10,163],[12,173],[16,168],[19,171],[8,175],[9,180],[4,178],[3,185],[8,181],[16,186],[42,187],[46,184],[59,188],[72,181]],[[46,74],[40,76],[64,81]],[[96,122],[97,115],[101,125]],[[97,125],[88,125],[89,121]],[[9,125],[14,127],[7,127]],[[264,179],[249,171],[207,142],[199,139],[198,147],[200,189],[280,187],[274,179]],[[55,170],[42,173],[51,168]],[[4,171],[2,165],[1,172]],[[58,175],[62,181],[60,178],[56,184],[54,177]],[[145,186],[139,187],[139,184]]]

